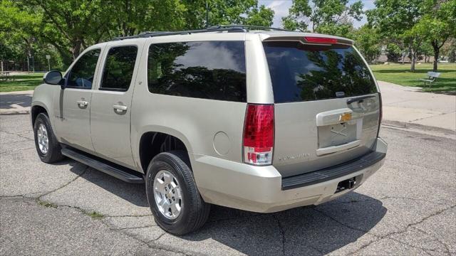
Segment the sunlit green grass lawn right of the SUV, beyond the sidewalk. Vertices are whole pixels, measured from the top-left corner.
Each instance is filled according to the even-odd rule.
[[[423,87],[424,91],[456,93],[456,64],[439,63],[438,71],[440,77],[432,82],[432,87],[424,87],[420,78],[427,78],[426,73],[432,71],[432,63],[424,63],[415,66],[415,72],[410,72],[409,64],[379,64],[371,65],[375,78],[380,81],[393,82],[397,85]]]

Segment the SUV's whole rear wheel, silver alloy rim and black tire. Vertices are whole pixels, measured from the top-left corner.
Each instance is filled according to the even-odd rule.
[[[199,195],[185,151],[160,153],[150,161],[146,193],[155,222],[163,230],[184,235],[206,223],[210,205]]]

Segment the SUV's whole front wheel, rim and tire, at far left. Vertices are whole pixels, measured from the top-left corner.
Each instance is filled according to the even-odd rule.
[[[33,124],[33,135],[35,137],[35,146],[41,161],[51,164],[61,161],[61,146],[54,136],[49,117],[40,113]]]

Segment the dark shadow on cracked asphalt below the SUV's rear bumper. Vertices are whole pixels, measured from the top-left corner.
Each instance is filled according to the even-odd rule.
[[[181,238],[216,240],[247,255],[326,255],[361,238],[386,211],[381,201],[356,192],[269,214],[213,206],[202,230]],[[350,249],[356,250],[344,248]]]

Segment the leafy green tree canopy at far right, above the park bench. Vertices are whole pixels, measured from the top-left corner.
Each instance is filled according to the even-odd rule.
[[[367,16],[384,38],[408,46],[411,71],[415,70],[417,53],[426,41],[432,45],[437,70],[440,48],[456,34],[454,0],[376,0],[375,9],[368,11]]]

